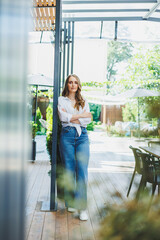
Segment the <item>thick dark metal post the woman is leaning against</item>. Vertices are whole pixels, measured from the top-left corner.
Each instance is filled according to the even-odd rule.
[[[60,80],[60,33],[61,33],[61,0],[56,1],[56,33],[54,55],[54,99],[53,99],[53,130],[52,130],[52,165],[51,165],[51,195],[50,210],[56,210],[56,158],[58,130],[58,96]]]

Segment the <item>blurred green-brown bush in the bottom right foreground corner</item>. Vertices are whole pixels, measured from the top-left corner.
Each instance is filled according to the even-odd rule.
[[[99,240],[159,240],[160,202],[155,198],[150,206],[150,197],[122,201],[103,209]]]

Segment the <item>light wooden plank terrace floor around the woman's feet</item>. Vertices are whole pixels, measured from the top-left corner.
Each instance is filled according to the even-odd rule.
[[[37,159],[28,162],[26,194],[27,240],[99,240],[97,231],[107,203],[119,201],[115,192],[126,198],[134,169],[134,158],[129,145],[142,146],[131,138],[111,138],[105,132],[90,132],[90,164],[88,184],[89,220],[80,221],[68,213],[58,200],[57,212],[42,212],[43,201],[50,199],[49,157],[45,136],[37,136]],[[136,180],[139,181],[138,176]],[[136,187],[131,189],[131,196]]]

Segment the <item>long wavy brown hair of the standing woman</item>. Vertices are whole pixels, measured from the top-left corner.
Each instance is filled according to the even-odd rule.
[[[74,108],[76,108],[79,111],[79,107],[80,106],[82,108],[84,108],[85,100],[83,99],[83,97],[81,95],[81,88],[82,88],[82,86],[81,86],[80,79],[79,79],[79,77],[76,74],[70,74],[66,78],[64,89],[62,91],[62,96],[64,96],[64,97],[68,97],[69,96],[68,81],[69,81],[70,77],[74,77],[77,80],[77,82],[78,82],[78,89],[77,89],[76,94],[75,94],[76,103],[75,103]]]

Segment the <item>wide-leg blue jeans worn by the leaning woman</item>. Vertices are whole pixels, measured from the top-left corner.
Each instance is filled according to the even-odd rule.
[[[60,136],[60,154],[65,168],[63,178],[67,207],[84,210],[87,207],[89,140],[87,130],[81,127],[78,136],[74,127],[63,127]]]

